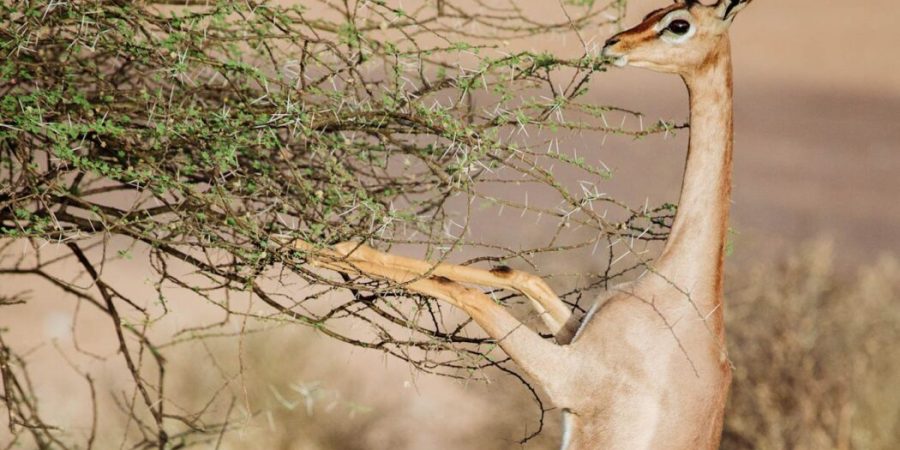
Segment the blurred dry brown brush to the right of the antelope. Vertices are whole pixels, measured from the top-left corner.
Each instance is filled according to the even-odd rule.
[[[892,449],[900,442],[900,266],[836,276],[828,243],[732,276],[736,366],[725,449]]]

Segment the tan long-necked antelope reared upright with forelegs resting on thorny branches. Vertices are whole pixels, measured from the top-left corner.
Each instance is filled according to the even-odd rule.
[[[733,120],[727,32],[746,3],[679,2],[604,48],[630,65],[680,75],[690,93],[691,134],[680,206],[662,254],[646,276],[598,301],[580,329],[546,283],[507,267],[431,264],[355,243],[295,247],[319,266],[390,280],[469,314],[566,412],[564,450],[718,448],[731,383],[722,314]],[[658,24],[669,14],[692,22],[690,39],[660,37]],[[464,284],[522,293],[559,344]]]

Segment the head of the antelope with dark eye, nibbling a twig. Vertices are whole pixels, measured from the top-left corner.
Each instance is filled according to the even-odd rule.
[[[723,44],[734,17],[752,0],[676,0],[648,14],[634,28],[606,41],[603,56],[614,64],[686,74],[702,66]]]

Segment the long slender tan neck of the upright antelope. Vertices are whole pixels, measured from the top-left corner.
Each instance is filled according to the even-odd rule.
[[[706,64],[683,79],[690,94],[690,143],[678,212],[656,270],[691,291],[698,306],[716,308],[722,294],[734,133],[728,38],[722,38]]]

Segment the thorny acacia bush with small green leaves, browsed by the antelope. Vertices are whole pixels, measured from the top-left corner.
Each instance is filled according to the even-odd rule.
[[[295,240],[532,267],[605,252],[606,267],[563,292],[579,309],[646,264],[637,246],[665,239],[674,206],[616,201],[601,189],[611,171],[560,145],[685,126],[645,127],[637,112],[585,101],[607,62],[581,30],[617,25],[624,1],[569,1],[556,22],[514,2],[290,3],[0,3],[0,273],[42,279],[111,321],[133,388],[117,412],[93,414],[88,447],[100,413],[127,417],[125,440],[142,447],[224,432],[233,382],[188,410],[166,394],[166,354],[254,327],[311,326],[446,376],[518,377],[466,318],[402,287],[311,270]],[[505,50],[558,33],[582,39],[581,56]],[[484,242],[470,229],[476,210],[546,217],[556,231],[514,248]],[[23,242],[30,252],[13,250]],[[152,293],[108,274],[130,259],[146,263]],[[188,308],[176,291],[221,318],[164,332],[187,315],[173,318]],[[29,301],[16,294],[4,315]],[[13,441],[72,445],[38,414],[25,362],[3,345]],[[82,375],[97,411],[96,376]]]

